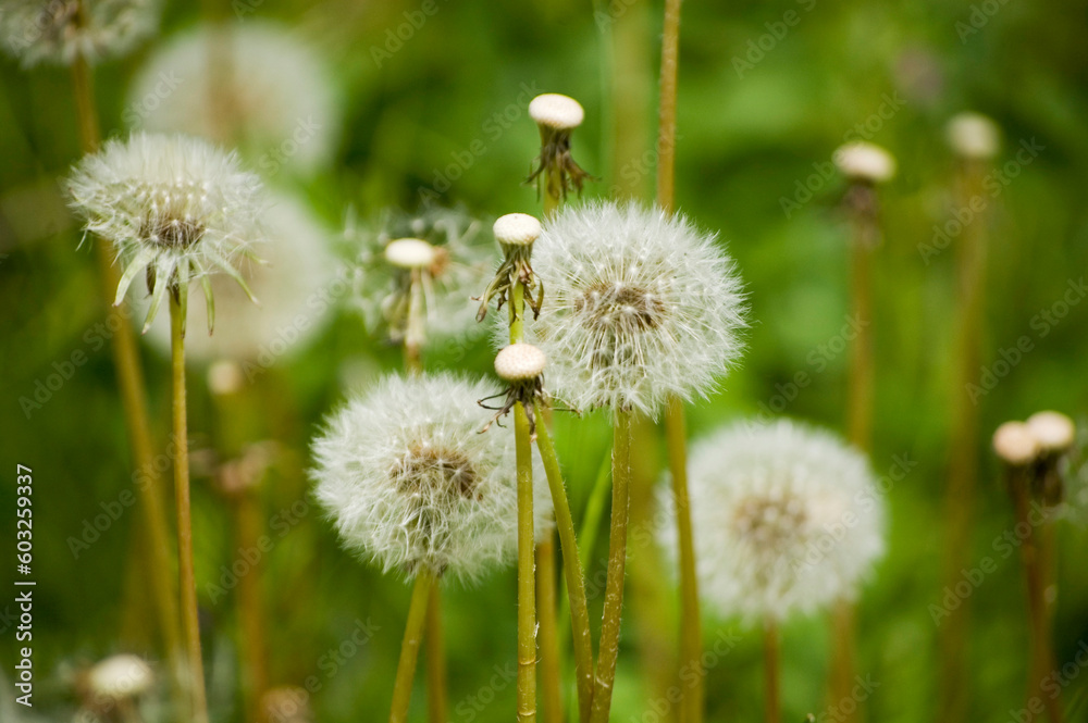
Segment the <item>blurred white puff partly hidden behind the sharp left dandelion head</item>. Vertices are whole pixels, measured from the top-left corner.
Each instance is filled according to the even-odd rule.
[[[210,363],[231,360],[268,366],[306,349],[325,327],[350,282],[338,274],[330,247],[333,234],[301,201],[281,194],[270,196],[263,214],[265,228],[261,263],[242,260],[238,273],[260,306],[247,303],[246,291],[228,276],[211,277],[215,299],[215,333],[190,334],[185,353],[191,361]],[[143,292],[129,295],[137,308],[147,306]],[[200,319],[207,300],[195,295],[189,313]],[[159,317],[148,331],[148,340],[170,352],[170,320]]]

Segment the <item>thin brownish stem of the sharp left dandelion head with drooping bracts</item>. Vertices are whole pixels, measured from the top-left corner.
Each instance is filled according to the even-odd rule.
[[[194,723],[207,723],[203,661],[200,656],[200,619],[197,613],[197,584],[193,566],[193,515],[189,502],[189,438],[185,409],[185,324],[178,289],[170,291],[170,369],[173,376],[174,497],[177,507],[178,588],[182,623],[188,663],[188,684]]]

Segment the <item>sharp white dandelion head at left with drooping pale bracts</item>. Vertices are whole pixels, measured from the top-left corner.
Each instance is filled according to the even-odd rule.
[[[235,264],[262,238],[263,191],[234,153],[196,138],[137,133],[85,157],[69,178],[69,194],[86,230],[113,244],[124,264],[116,303],[146,272],[151,302],[144,331],[168,288],[187,290],[199,281],[209,328],[212,273],[224,272],[249,294]],[[187,296],[181,298],[186,303]]]

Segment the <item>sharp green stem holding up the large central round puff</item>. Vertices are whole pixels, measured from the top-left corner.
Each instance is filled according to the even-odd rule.
[[[617,409],[613,441],[611,526],[608,534],[608,579],[605,583],[596,682],[590,711],[592,723],[607,723],[611,708],[616,663],[619,659],[620,620],[623,612],[623,576],[627,568],[627,522],[631,481],[631,412]]]

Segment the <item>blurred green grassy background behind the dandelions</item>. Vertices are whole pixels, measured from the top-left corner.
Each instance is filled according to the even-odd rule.
[[[598,180],[584,197],[652,198],[659,3],[436,0],[430,7],[435,12],[405,32],[409,15],[418,16],[421,8],[415,0],[169,3],[160,37],[96,68],[103,130],[127,133],[133,78],[171,36],[213,17],[239,25],[276,22],[310,42],[321,59],[341,129],[331,159],[314,173],[276,173],[268,180],[311,207],[337,253],[350,253],[341,237],[349,209],[363,222],[390,208],[413,212],[428,189],[438,191],[432,200],[459,204],[487,225],[505,212],[539,212],[534,188],[522,183],[537,144],[526,108],[539,92],[568,94],[585,107],[574,152]],[[1088,264],[1088,3],[741,0],[688,2],[683,12],[678,204],[728,242],[750,292],[752,321],[747,351],[724,391],[691,408],[693,437],[768,407],[843,428],[848,354],[821,349],[836,346],[849,312],[849,230],[839,210],[845,184],[834,174],[821,176],[820,169],[848,138],[880,144],[899,160],[899,175],[881,191],[885,238],[875,255],[873,465],[887,475],[901,460],[916,464],[888,491],[889,553],[861,601],[857,666],[877,684],[864,702],[868,720],[932,720],[944,628],[935,624],[930,606],[941,606],[944,597],[951,410],[969,403],[956,388],[952,364],[955,253],[925,252],[935,225],[955,209],[956,166],[943,127],[953,114],[974,110],[1002,128],[1005,148],[994,161],[1002,174],[994,177],[999,191],[986,217],[976,221],[986,224],[989,239],[981,360],[992,370],[1021,337],[1031,345],[978,399],[980,484],[967,554],[977,564],[996,557],[994,539],[1014,523],[989,451],[992,429],[1041,409],[1088,421],[1088,303],[1079,291],[1061,306]],[[399,45],[390,40],[398,30]],[[1017,162],[1022,144],[1041,150],[1030,162]],[[36,485],[36,712],[45,720],[71,716],[67,682],[81,666],[118,651],[159,658],[138,572],[138,515],[126,510],[77,556],[69,543],[102,503],[132,486],[109,350],[92,348],[85,336],[104,319],[96,266],[88,246],[79,246],[59,183],[78,153],[66,70],[26,71],[11,59],[0,61],[0,459],[7,470],[0,545],[14,547],[14,465],[29,465]],[[449,180],[448,188],[441,179]],[[1037,315],[1047,310],[1055,322],[1044,325],[1043,335]],[[86,351],[87,363],[27,414],[20,398],[33,396],[52,364],[75,350]],[[169,425],[168,360],[148,345],[143,352],[161,449]],[[486,374],[490,359],[481,340],[433,349],[428,365]],[[347,309],[305,348],[276,359],[247,384],[231,414],[209,395],[206,369],[193,364],[189,424],[193,445],[201,450],[198,461],[205,460],[194,483],[197,574],[215,720],[242,720],[235,596],[209,593],[238,553],[231,506],[208,471],[240,445],[258,441],[276,449],[260,503],[275,539],[261,562],[271,681],[298,685],[318,676],[321,689],[312,703],[321,721],[386,714],[409,591],[341,550],[310,498],[305,470],[322,416],[348,389],[398,367],[397,350]],[[799,372],[807,372],[811,384],[790,388]],[[559,415],[556,436],[580,520],[607,459],[607,421]],[[660,453],[646,451],[651,463],[662,464]],[[1072,660],[1088,639],[1088,499],[1077,470],[1072,472],[1058,525],[1060,662]],[[598,549],[591,551],[591,579],[604,568],[605,538],[598,535]],[[3,564],[0,578],[12,574],[9,566]],[[666,574],[660,582],[671,590],[669,579]],[[516,660],[515,594],[512,570],[478,587],[446,591],[455,721],[514,714],[515,685],[502,672]],[[0,610],[11,597],[3,594]],[[616,721],[656,720],[646,716],[653,686],[644,682],[636,651],[647,629],[675,628],[673,597],[654,609],[653,620],[633,613],[627,619]],[[599,603],[598,588],[591,600],[595,620]],[[967,604],[970,665],[962,685],[969,690],[970,716],[1012,720],[1010,711],[1024,705],[1028,661],[1017,556],[998,559]],[[373,631],[368,641],[342,660],[331,658],[360,621]],[[708,673],[707,720],[757,720],[758,633],[709,614],[704,627],[708,645],[719,634],[739,634]],[[3,675],[10,677],[14,643],[7,619],[0,629]],[[827,620],[789,624],[783,650],[787,719],[813,712],[838,720],[825,693]],[[1078,673],[1066,701],[1086,696],[1088,673]],[[413,715],[422,720],[418,677]],[[1086,716],[1088,706],[1081,705],[1071,720]]]

